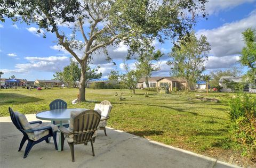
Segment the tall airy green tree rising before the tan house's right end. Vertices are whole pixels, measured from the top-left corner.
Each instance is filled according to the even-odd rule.
[[[171,68],[171,74],[183,77],[187,80],[187,90],[190,85],[204,72],[204,62],[207,60],[207,53],[211,50],[206,36],[196,38],[195,32],[185,36],[177,45],[174,45],[169,53],[171,60],[167,62]]]

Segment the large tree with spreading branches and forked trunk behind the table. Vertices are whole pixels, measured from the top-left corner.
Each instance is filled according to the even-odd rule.
[[[37,24],[38,32],[54,33],[58,44],[81,65],[79,94],[80,100],[85,101],[85,70],[93,53],[103,51],[110,61],[108,46],[122,42],[130,46],[132,54],[140,48],[138,39],[177,40],[193,27],[198,16],[205,16],[205,3],[206,0],[1,0],[0,19]],[[74,36],[70,37],[63,26],[69,27]],[[77,51],[83,51],[83,55]]]

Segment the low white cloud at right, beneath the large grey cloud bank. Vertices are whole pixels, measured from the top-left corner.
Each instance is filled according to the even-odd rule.
[[[210,56],[208,61],[205,62],[206,69],[218,69],[218,68],[231,68],[235,64],[239,64],[239,55],[231,56]]]

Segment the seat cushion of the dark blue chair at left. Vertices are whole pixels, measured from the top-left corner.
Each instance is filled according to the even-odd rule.
[[[41,128],[41,127],[46,127],[46,126],[51,126],[53,132],[58,131],[58,126],[51,124],[51,123],[42,123],[42,124],[31,124],[31,126],[33,127],[33,129],[35,128]],[[28,138],[34,141],[37,141],[41,138],[43,138],[44,136],[49,135],[49,130],[43,130],[43,131],[35,131],[35,132],[28,132]]]

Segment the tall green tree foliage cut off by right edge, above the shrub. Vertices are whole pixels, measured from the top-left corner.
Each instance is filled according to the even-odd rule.
[[[243,33],[245,47],[242,49],[240,62],[249,67],[247,77],[251,82],[256,78],[256,29],[248,28]]]

